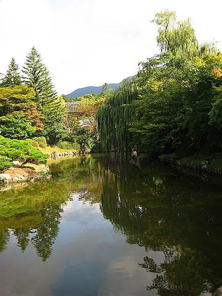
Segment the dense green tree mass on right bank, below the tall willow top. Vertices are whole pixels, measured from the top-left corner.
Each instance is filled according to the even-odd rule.
[[[103,149],[112,143],[119,150],[158,154],[220,152],[221,69],[221,53],[185,58],[166,52],[141,63],[129,86],[137,93],[134,99],[122,101],[127,89],[120,88],[99,110]],[[127,143],[126,137],[123,148],[119,143]]]

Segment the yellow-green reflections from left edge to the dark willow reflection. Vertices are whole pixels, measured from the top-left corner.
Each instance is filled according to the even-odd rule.
[[[0,252],[6,249],[10,232],[17,238],[22,252],[31,243],[37,255],[46,261],[58,235],[63,205],[70,192],[82,192],[82,198],[98,202],[102,183],[99,182],[97,160],[91,155],[59,159],[55,162],[54,177],[41,182],[4,192],[0,199]],[[95,182],[97,181],[97,182]]]

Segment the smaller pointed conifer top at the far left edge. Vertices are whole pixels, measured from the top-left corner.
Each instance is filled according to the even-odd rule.
[[[15,59],[12,58],[10,64],[8,65],[7,74],[1,79],[1,87],[21,85],[22,78],[18,71],[18,64],[16,64]]]

